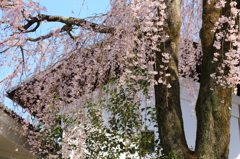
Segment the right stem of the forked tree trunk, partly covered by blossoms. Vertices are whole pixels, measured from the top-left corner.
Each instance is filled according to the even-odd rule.
[[[203,48],[203,68],[200,82],[199,96],[196,105],[197,138],[195,153],[199,159],[227,159],[230,141],[230,108],[232,106],[232,89],[223,88],[216,84],[210,74],[216,72],[222,61],[212,63],[213,54],[217,50],[213,47],[215,33],[212,32],[214,23],[229,9],[227,2],[224,9],[217,9],[214,5],[218,0],[203,0],[203,23],[200,33]],[[223,28],[226,29],[226,28]],[[224,43],[224,52],[229,49]],[[227,70],[225,70],[227,71]]]

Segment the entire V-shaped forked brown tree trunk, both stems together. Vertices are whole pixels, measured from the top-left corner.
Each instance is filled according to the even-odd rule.
[[[171,60],[168,64],[168,72],[171,77],[166,77],[171,88],[164,84],[155,86],[156,109],[158,119],[159,136],[163,153],[178,155],[179,159],[227,159],[230,141],[230,117],[232,107],[232,89],[224,88],[210,77],[215,73],[222,61],[212,63],[214,53],[217,51],[213,47],[215,40],[214,23],[219,17],[229,13],[229,3],[225,8],[214,7],[218,0],[203,0],[203,24],[201,29],[201,41],[203,47],[203,72],[199,96],[196,105],[197,115],[197,138],[195,152],[188,149],[186,144],[182,112],[180,106],[180,87],[178,77],[178,43],[181,26],[180,0],[165,0],[168,14],[168,35],[170,36],[163,45],[160,46],[162,52],[169,53]],[[226,29],[226,26],[225,28]],[[228,51],[229,43],[224,43],[224,52]],[[218,50],[219,51],[219,50]],[[160,71],[162,64],[162,54],[156,52],[155,70]],[[227,69],[225,73],[227,73]],[[160,76],[155,76],[158,80]]]

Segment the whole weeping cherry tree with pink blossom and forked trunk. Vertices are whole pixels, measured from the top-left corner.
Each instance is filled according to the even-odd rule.
[[[43,14],[46,9],[32,0],[0,0],[0,66],[13,68],[1,81],[1,97],[8,90],[34,116],[23,121],[32,152],[48,158],[147,157],[141,131],[154,123],[157,158],[228,158],[240,72],[240,4],[110,5],[107,14],[81,19]],[[63,26],[35,36],[42,23]],[[200,81],[194,150],[184,134],[181,77]]]

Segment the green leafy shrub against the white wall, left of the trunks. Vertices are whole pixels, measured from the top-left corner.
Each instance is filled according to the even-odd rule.
[[[141,106],[150,100],[149,79],[152,75],[147,73],[147,69],[132,68],[131,71],[132,75],[145,78],[136,80],[129,76],[124,85],[120,85],[119,79],[111,80],[102,88],[105,95],[100,100],[87,103],[87,118],[93,128],[86,129],[89,134],[86,158],[112,159],[123,153],[126,158],[146,158],[152,153],[146,150],[149,142],[156,144],[156,151],[160,150],[159,140],[153,137],[155,141],[149,141],[142,136],[142,130],[148,130],[150,124],[156,127],[156,109],[147,104]],[[137,97],[140,94],[143,96]]]

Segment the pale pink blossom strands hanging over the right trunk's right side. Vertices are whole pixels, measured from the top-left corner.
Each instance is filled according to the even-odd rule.
[[[226,1],[220,1],[216,7],[225,7],[225,3]],[[239,84],[240,77],[238,23],[240,9],[236,7],[236,1],[230,2],[230,15],[220,17],[213,30],[216,37],[213,46],[216,48],[216,52],[212,63],[221,63],[216,73],[213,73],[211,77],[216,78],[217,83],[226,87],[235,87],[236,84]]]

